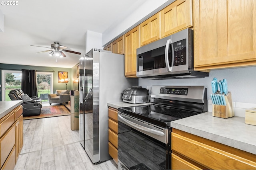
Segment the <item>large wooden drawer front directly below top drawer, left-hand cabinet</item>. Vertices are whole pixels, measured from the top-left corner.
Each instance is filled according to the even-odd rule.
[[[0,164],[4,164],[15,145],[15,127],[14,125],[0,138]]]

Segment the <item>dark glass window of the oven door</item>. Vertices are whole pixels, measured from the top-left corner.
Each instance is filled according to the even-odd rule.
[[[166,169],[167,152],[168,144],[118,121],[118,161],[126,168]]]

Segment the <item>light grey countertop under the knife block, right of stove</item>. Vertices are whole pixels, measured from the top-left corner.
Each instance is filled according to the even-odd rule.
[[[171,127],[256,154],[256,126],[245,124],[244,117],[224,119],[205,112],[172,121]]]

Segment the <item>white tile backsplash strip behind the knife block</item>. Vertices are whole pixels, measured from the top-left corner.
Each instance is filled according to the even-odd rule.
[[[256,104],[232,102],[234,115],[238,117],[245,117],[245,110],[252,107],[256,108]],[[208,100],[208,111],[212,112],[212,100]]]

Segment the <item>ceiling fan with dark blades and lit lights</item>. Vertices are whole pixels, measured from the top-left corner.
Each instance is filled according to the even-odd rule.
[[[30,45],[30,46],[34,46],[34,47],[42,47],[42,46],[37,46],[37,45]],[[48,51],[51,51],[49,53],[50,56],[53,56],[55,54],[56,57],[66,57],[66,55],[62,52],[68,52],[68,53],[74,53],[74,54],[78,54],[80,55],[81,53],[79,52],[76,52],[76,51],[70,51],[70,50],[67,50],[68,47],[65,47],[63,45],[60,45],[59,42],[54,42],[54,44],[51,44],[51,47],[44,47],[44,48],[48,48],[50,50],[46,50],[46,51],[41,51],[41,52],[38,52],[36,54],[39,54],[39,53],[45,53],[45,52],[48,52]]]

